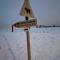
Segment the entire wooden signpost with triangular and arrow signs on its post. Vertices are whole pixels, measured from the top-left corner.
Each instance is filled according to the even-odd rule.
[[[30,35],[29,35],[29,28],[31,26],[36,26],[37,25],[37,19],[34,18],[34,14],[32,12],[29,0],[24,0],[24,4],[22,6],[21,16],[25,16],[25,21],[22,22],[16,22],[15,24],[12,25],[12,32],[13,32],[13,27],[16,28],[24,28],[26,31],[26,38],[27,38],[27,55],[28,55],[28,60],[31,60],[31,47],[30,47]],[[30,19],[33,18],[33,19]]]

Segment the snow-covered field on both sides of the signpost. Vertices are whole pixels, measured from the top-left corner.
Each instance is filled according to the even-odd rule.
[[[60,27],[30,29],[32,60],[60,60]],[[0,30],[0,60],[27,60],[26,33]]]

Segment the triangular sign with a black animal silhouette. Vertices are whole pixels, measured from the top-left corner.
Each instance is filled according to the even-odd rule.
[[[20,15],[35,18],[29,0],[24,0],[23,6],[20,11]]]

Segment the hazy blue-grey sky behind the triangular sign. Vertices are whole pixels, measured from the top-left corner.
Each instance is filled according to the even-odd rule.
[[[24,0],[0,0],[0,25],[24,20],[19,15]],[[30,0],[38,24],[60,25],[60,0]]]

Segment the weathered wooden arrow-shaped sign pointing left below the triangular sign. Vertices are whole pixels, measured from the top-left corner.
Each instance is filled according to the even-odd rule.
[[[36,19],[31,19],[28,21],[22,21],[22,22],[17,22],[14,24],[14,27],[16,28],[25,28],[25,27],[31,27],[31,26],[36,26],[37,20]]]

